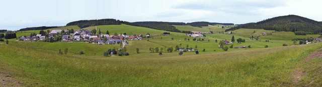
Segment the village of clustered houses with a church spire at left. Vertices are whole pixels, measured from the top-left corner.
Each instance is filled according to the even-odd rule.
[[[64,32],[68,32],[68,30],[64,30]],[[144,40],[142,35],[126,35],[126,34],[119,34],[119,35],[109,35],[109,34],[102,34],[101,29],[98,32],[98,35],[92,35],[92,31],[88,29],[79,29],[72,33],[62,33],[62,29],[53,29],[50,31],[48,36],[37,34],[36,36],[21,36],[19,40],[21,41],[37,41],[37,40],[45,40],[51,38],[61,37],[59,41],[63,42],[73,42],[73,41],[84,41],[84,42],[91,42],[91,43],[98,43],[98,44],[119,44],[124,39],[130,40]],[[149,38],[150,35],[145,35],[146,38]],[[126,42],[127,43],[127,42]]]

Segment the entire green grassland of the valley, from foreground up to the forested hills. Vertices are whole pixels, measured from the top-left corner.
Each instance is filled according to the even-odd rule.
[[[184,26],[188,27],[188,26]],[[190,26],[189,26],[190,27]],[[210,26],[215,27],[215,26]],[[218,26],[217,26],[218,27]],[[67,27],[65,27],[67,28]],[[94,29],[95,26],[87,27]],[[9,39],[9,44],[0,42],[0,77],[10,75],[22,86],[319,86],[322,85],[322,43],[294,45],[292,38],[319,35],[295,35],[294,32],[264,29],[237,29],[233,34],[206,34],[204,41],[192,41],[184,33],[171,32],[164,36],[163,30],[121,25],[99,25],[102,33],[110,34],[150,33],[148,40],[129,40],[126,52],[129,56],[103,55],[109,48],[120,48],[120,44],[98,45],[88,42],[24,42]],[[205,29],[205,28],[202,28]],[[213,30],[219,28],[213,28]],[[193,29],[195,30],[195,29]],[[255,30],[255,33],[254,33]],[[26,31],[31,33],[34,30]],[[197,31],[197,30],[196,30]],[[35,31],[34,31],[35,32]],[[272,33],[250,39],[251,35]],[[23,34],[20,32],[20,34]],[[36,33],[39,33],[36,32]],[[18,35],[18,33],[17,33]],[[219,40],[234,38],[246,42],[232,43],[228,51],[218,47]],[[171,39],[173,38],[173,39]],[[185,40],[189,38],[190,40]],[[196,38],[196,39],[199,39]],[[218,42],[215,42],[215,39]],[[271,39],[266,42],[265,39]],[[209,41],[208,41],[209,40]],[[289,46],[283,46],[282,44]],[[167,52],[168,47],[189,47],[195,51]],[[225,46],[230,46],[225,45]],[[265,48],[265,45],[269,45]],[[150,52],[149,47],[164,48],[163,55]],[[68,54],[60,55],[68,48]],[[140,53],[136,53],[139,48]],[[202,49],[205,48],[205,51]],[[83,50],[85,54],[79,55]],[[301,74],[303,73],[303,74]],[[300,79],[298,79],[300,76]],[[0,85],[2,82],[0,82]],[[5,85],[6,86],[6,85]]]

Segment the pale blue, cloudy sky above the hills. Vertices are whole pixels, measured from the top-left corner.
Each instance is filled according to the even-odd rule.
[[[322,21],[322,0],[2,0],[0,29],[84,19],[243,24],[295,14]]]

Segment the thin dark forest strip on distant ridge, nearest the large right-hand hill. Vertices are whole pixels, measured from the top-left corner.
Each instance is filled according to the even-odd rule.
[[[197,27],[215,25],[215,24],[234,25],[233,23],[217,23],[217,22],[206,22],[206,21],[198,21],[198,22],[189,22],[189,23],[187,23],[187,25],[197,26]]]

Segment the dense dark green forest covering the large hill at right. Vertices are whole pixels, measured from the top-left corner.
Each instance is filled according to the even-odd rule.
[[[256,23],[241,24],[225,31],[239,28],[263,28],[276,31],[293,31],[299,35],[317,34],[322,32],[322,23],[298,15],[278,16]]]

